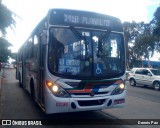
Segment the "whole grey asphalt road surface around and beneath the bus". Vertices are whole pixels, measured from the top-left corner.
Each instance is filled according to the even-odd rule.
[[[78,112],[45,115],[44,112],[33,103],[29,94],[18,86],[18,81],[15,79],[15,70],[6,69],[4,71],[5,78],[2,79],[2,88],[0,93],[0,119],[75,119],[81,121],[88,119],[90,125],[83,125],[83,127],[107,127],[107,128],[158,128],[159,125],[107,125],[103,120],[108,119],[160,119],[160,91],[155,91],[151,88],[131,87],[127,84],[127,98],[125,108],[120,109],[106,109],[94,112]],[[97,119],[102,121],[96,123]],[[58,120],[59,121],[59,120]],[[93,121],[93,122],[92,122]],[[118,120],[119,121],[119,120]],[[123,120],[126,121],[126,120]],[[127,120],[128,121],[128,120]],[[60,122],[58,122],[60,123]],[[65,122],[66,123],[66,122]],[[93,125],[92,125],[93,123]],[[120,122],[121,123],[121,122]],[[160,123],[160,122],[158,122]],[[82,127],[79,123],[73,122],[70,124],[76,127]],[[65,127],[70,127],[66,125]],[[3,126],[4,127],[4,126]],[[13,126],[12,126],[13,127]],[[45,126],[46,127],[46,126]],[[47,126],[51,127],[51,126]],[[56,125],[56,127],[63,127],[64,125]]]

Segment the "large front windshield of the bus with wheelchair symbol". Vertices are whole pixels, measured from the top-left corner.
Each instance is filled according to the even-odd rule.
[[[113,78],[125,71],[123,35],[110,31],[52,27],[48,66],[62,77]]]

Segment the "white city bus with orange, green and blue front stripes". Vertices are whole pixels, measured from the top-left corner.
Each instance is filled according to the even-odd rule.
[[[18,50],[16,78],[46,114],[125,106],[121,21],[50,9]]]

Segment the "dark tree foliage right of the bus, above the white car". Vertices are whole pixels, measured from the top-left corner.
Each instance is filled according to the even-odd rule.
[[[144,22],[123,23],[129,67],[139,65],[136,63],[136,60],[142,61],[143,59],[148,59],[148,67],[150,67],[150,58],[154,52],[160,52],[160,35],[158,33],[155,34],[155,30],[158,30],[160,27],[160,25],[158,27],[158,23],[160,23],[160,9],[159,11],[156,10],[156,12],[158,12],[156,16],[158,15],[159,19],[155,18],[155,24],[153,24],[153,20],[149,24]],[[160,33],[160,30],[158,32]]]

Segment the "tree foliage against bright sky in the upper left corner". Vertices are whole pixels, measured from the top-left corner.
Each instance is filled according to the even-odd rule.
[[[0,1],[0,33],[2,36],[7,34],[6,28],[10,27],[13,29],[16,21],[14,20],[15,13],[9,10],[5,5],[3,5]]]

